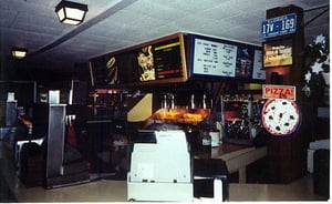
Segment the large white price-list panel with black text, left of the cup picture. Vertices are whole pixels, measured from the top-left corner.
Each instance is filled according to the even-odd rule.
[[[237,47],[195,39],[193,73],[217,76],[236,75]]]

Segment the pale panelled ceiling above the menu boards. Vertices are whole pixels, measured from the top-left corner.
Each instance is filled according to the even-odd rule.
[[[329,0],[73,1],[89,7],[77,27],[59,22],[54,8],[60,0],[1,0],[1,64],[18,47],[29,50],[25,64],[31,69],[68,71],[75,63],[178,31],[260,45],[266,11],[289,4],[304,10],[304,22],[310,22],[304,30],[307,43],[330,30]]]

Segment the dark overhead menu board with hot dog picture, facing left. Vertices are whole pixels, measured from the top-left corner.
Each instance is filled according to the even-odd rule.
[[[185,40],[180,32],[96,57],[89,62],[93,88],[165,84],[188,80]]]

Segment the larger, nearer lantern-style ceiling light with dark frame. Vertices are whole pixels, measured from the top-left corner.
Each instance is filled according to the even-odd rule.
[[[62,0],[56,7],[55,12],[60,22],[66,24],[80,24],[85,18],[87,6]]]

